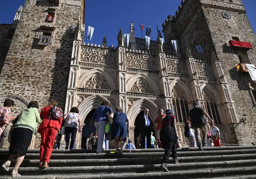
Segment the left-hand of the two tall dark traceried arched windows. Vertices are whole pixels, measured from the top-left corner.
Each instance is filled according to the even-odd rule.
[[[186,122],[189,115],[189,109],[182,88],[177,85],[174,86],[172,94],[173,113],[176,116],[176,120],[177,122]]]

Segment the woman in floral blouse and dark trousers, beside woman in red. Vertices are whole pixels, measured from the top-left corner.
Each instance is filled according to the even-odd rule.
[[[66,150],[72,149],[76,140],[77,130],[81,132],[81,119],[79,116],[79,110],[77,107],[73,107],[68,114],[65,114],[63,119],[65,120],[65,135],[66,135]],[[71,142],[69,140],[71,136]]]

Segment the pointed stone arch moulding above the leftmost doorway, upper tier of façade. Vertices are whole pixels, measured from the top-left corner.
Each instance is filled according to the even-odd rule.
[[[112,77],[105,72],[103,69],[96,68],[96,69],[91,69],[84,73],[78,80],[78,88],[84,88],[84,84],[93,78],[94,76],[97,76],[101,79],[104,79],[105,82],[107,82],[107,85],[109,86],[109,90],[116,90],[116,83],[112,79]],[[104,83],[105,83],[104,82]],[[93,82],[92,82],[93,83]],[[96,88],[97,89],[97,88]]]

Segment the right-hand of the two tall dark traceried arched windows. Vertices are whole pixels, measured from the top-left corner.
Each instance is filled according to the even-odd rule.
[[[219,110],[217,107],[216,100],[210,90],[207,88],[203,89],[204,102],[206,107],[206,112],[209,114],[212,120],[214,120],[215,124],[221,124],[221,118],[219,114]]]

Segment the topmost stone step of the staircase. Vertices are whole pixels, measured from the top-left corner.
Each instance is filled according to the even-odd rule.
[[[223,146],[223,147],[203,147],[204,151],[216,151],[216,150],[242,150],[242,149],[256,149],[256,146]],[[115,149],[105,150],[105,153],[110,153],[111,151],[115,151]],[[198,147],[186,147],[186,148],[177,148],[178,152],[186,152],[186,151],[198,151]],[[39,149],[29,149],[27,153],[39,153]],[[129,149],[123,149],[124,153],[129,153]],[[164,149],[132,149],[132,153],[146,153],[146,152],[164,152]],[[0,149],[0,154],[8,153],[8,149]],[[52,153],[96,153],[96,149],[77,149],[77,150],[53,150]]]

